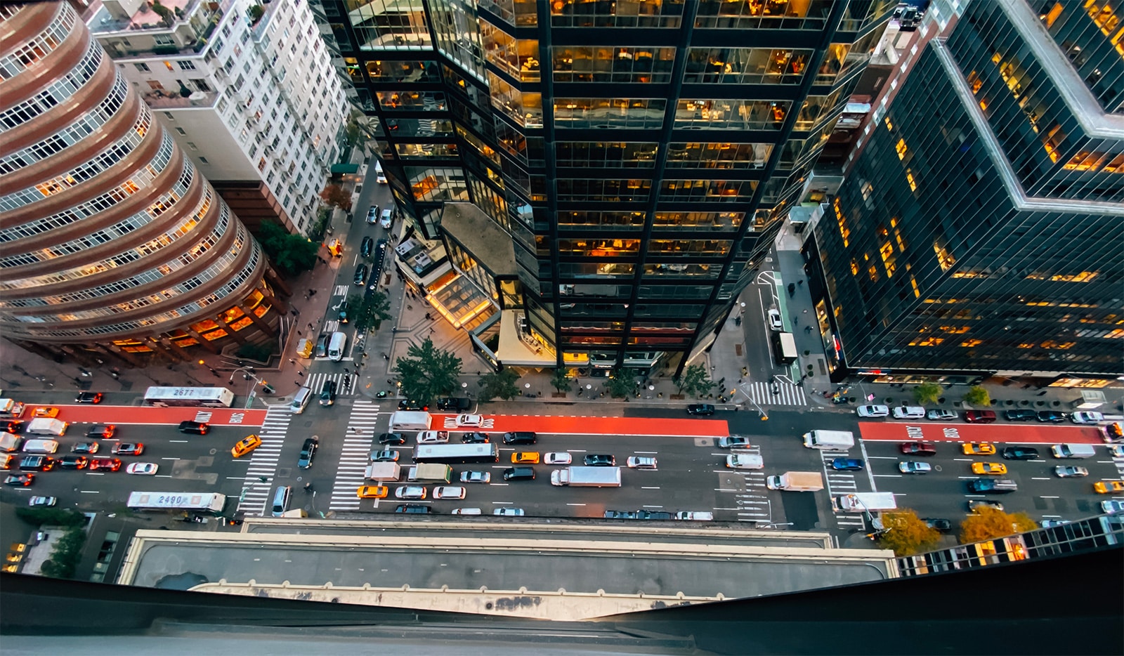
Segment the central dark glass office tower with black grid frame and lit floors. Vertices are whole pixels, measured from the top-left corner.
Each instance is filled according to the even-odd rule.
[[[319,4],[420,235],[471,201],[511,249],[515,293],[489,295],[519,310],[524,343],[551,364],[645,372],[714,339],[894,8]],[[457,266],[473,268],[487,254],[464,246]]]

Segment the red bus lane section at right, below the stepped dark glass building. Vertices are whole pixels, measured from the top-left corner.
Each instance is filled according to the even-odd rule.
[[[1100,429],[1093,426],[1049,423],[908,423],[860,421],[867,440],[991,441],[1010,444],[1104,444]]]

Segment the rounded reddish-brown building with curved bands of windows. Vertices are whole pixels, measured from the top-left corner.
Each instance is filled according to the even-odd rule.
[[[277,332],[261,246],[67,3],[0,9],[0,130],[3,337],[140,364]]]

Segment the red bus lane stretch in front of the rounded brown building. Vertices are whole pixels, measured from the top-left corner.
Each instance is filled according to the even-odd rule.
[[[20,417],[29,421],[36,408],[57,408],[61,419],[70,423],[119,423],[178,426],[181,421],[206,421],[212,428],[223,426],[257,427],[265,421],[265,410],[243,408],[147,408],[135,406],[28,406]]]

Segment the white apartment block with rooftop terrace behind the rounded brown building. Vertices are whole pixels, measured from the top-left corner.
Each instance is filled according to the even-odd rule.
[[[88,25],[244,221],[309,231],[351,107],[306,2],[106,0]]]

